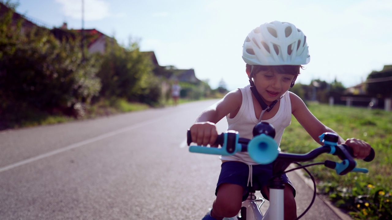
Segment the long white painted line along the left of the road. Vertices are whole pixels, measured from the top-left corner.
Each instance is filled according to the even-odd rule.
[[[99,136],[97,136],[97,137],[93,137],[93,138],[87,139],[87,140],[85,140],[85,141],[77,142],[77,143],[74,143],[74,144],[65,146],[65,147],[63,147],[63,148],[60,148],[60,149],[57,149],[57,150],[54,150],[54,151],[50,151],[50,152],[47,152],[47,153],[43,153],[43,154],[38,155],[38,156],[36,156],[36,157],[32,157],[32,158],[29,158],[29,159],[26,159],[26,160],[22,160],[22,161],[16,162],[16,163],[14,163],[14,164],[11,164],[11,165],[8,165],[8,166],[5,166],[5,167],[0,168],[0,173],[1,173],[1,172],[4,172],[4,171],[7,171],[7,170],[11,170],[11,169],[16,168],[16,167],[18,167],[18,166],[22,166],[22,165],[25,165],[25,164],[29,164],[29,163],[31,163],[31,162],[34,162],[34,161],[37,161],[37,160],[40,160],[40,159],[44,159],[44,158],[47,158],[47,157],[51,157],[51,156],[53,156],[53,155],[62,153],[62,152],[64,152],[64,151],[68,151],[68,150],[71,150],[71,149],[74,149],[74,148],[78,148],[78,147],[83,146],[83,145],[86,145],[86,144],[90,144],[90,143],[93,143],[93,142],[96,142],[96,141],[100,141],[100,140],[105,139],[105,138],[107,138],[107,137],[112,137],[112,136],[114,136],[114,135],[118,135],[118,134],[120,134],[120,133],[124,133],[124,132],[130,131],[130,130],[133,130],[133,129],[135,129],[135,128],[142,127],[142,126],[147,125],[147,124],[155,123],[156,121],[157,121],[157,119],[152,119],[152,120],[149,120],[149,121],[144,121],[144,122],[142,122],[142,123],[134,124],[134,125],[131,125],[131,126],[128,126],[128,127],[125,127],[125,128],[121,128],[121,129],[119,129],[119,130],[115,130],[115,131],[113,131],[113,132],[105,133],[105,134],[99,135]],[[186,141],[186,140],[185,140],[185,141]],[[186,144],[186,143],[185,143],[185,144]]]

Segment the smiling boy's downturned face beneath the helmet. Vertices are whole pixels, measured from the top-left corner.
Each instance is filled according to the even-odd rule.
[[[254,85],[268,105],[289,90],[293,79],[294,75],[282,74],[272,70],[261,70],[253,75]]]

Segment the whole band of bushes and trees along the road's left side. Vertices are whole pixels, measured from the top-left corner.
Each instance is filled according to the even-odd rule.
[[[80,32],[23,26],[23,19],[13,19],[17,4],[0,2],[10,9],[0,16],[0,130],[169,103],[168,76],[176,70],[154,64],[148,52],[140,51],[138,41],[130,39],[124,46],[110,38],[105,53],[90,54],[81,46]],[[84,41],[93,38],[87,34]],[[186,92],[181,100],[217,94],[204,81],[180,85]]]

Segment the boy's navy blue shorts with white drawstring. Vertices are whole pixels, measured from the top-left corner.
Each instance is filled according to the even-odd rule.
[[[218,188],[223,183],[230,183],[240,185],[244,188],[242,200],[245,201],[248,198],[248,177],[249,177],[249,166],[243,162],[227,161],[221,165],[221,173],[219,175],[218,184],[216,184],[215,195],[218,193]],[[264,198],[267,195],[263,192],[263,187],[268,184],[268,180],[272,177],[272,163],[271,164],[259,164],[252,165],[252,186],[255,191],[260,190]],[[289,184],[292,187],[293,195],[295,197],[296,191],[293,184],[286,173],[282,175],[283,182]],[[250,182],[250,181],[249,181]],[[250,183],[249,183],[250,186]],[[268,198],[267,198],[268,199]]]

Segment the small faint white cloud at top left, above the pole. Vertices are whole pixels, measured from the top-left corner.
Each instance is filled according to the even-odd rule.
[[[82,19],[82,1],[56,0],[62,7],[65,16]],[[84,19],[86,21],[102,20],[110,16],[109,3],[104,0],[85,0]]]

